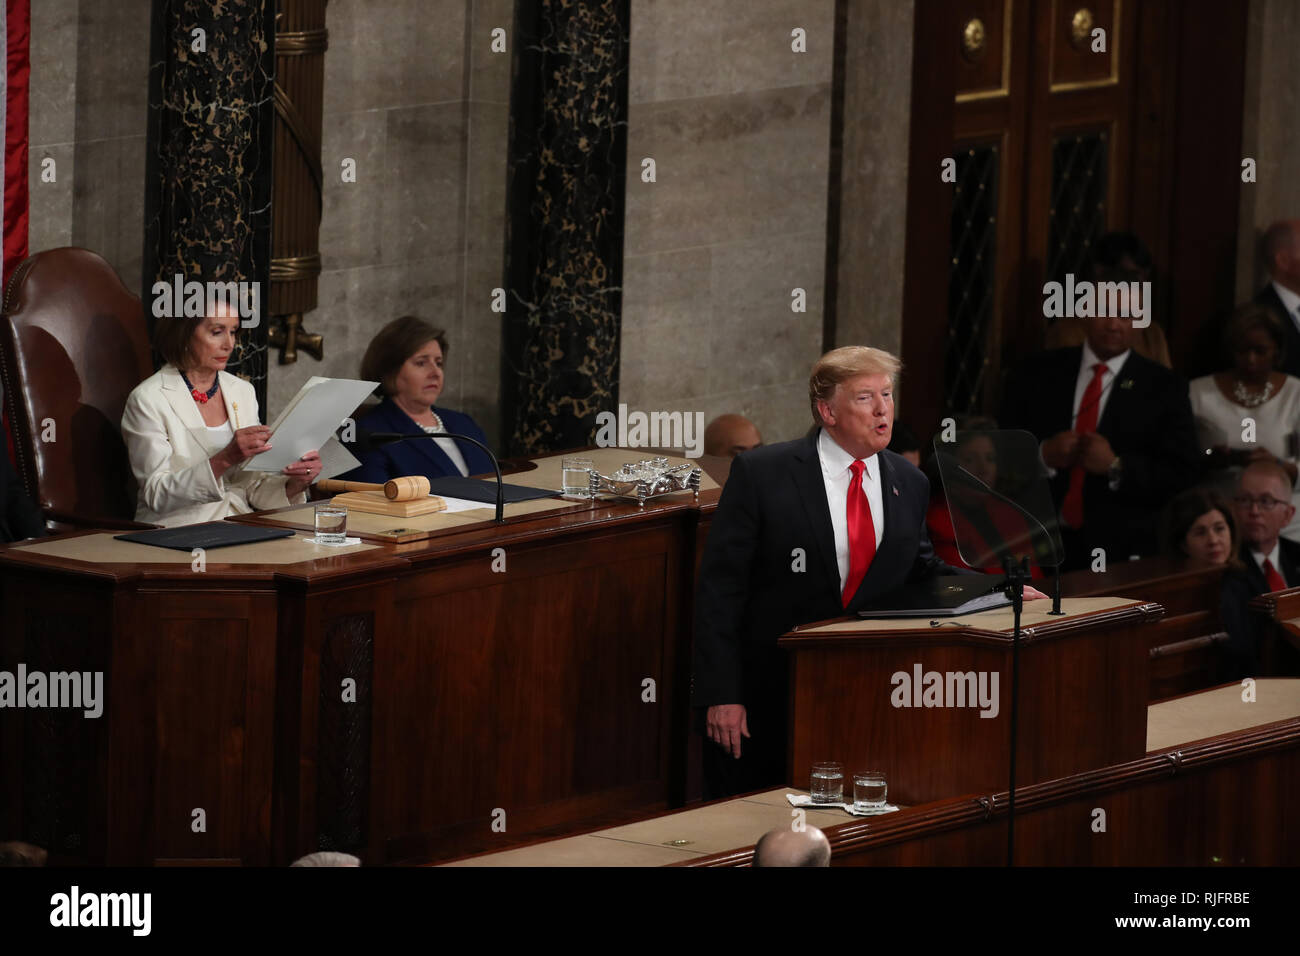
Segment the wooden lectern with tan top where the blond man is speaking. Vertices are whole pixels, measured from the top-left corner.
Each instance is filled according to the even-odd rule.
[[[1017,786],[1147,752],[1149,662],[1139,630],[1164,609],[1092,597],[1062,601],[1065,617],[1049,610],[1049,601],[1031,601],[1022,615]],[[1004,607],[933,623],[838,620],[786,633],[788,779],[806,786],[814,762],[838,761],[849,801],[853,773],[867,769],[885,773],[893,804],[1005,791],[1011,632],[1011,609]]]

